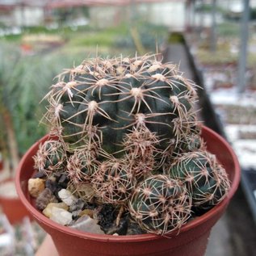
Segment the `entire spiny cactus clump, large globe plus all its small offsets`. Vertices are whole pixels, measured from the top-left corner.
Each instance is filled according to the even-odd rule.
[[[180,229],[192,207],[225,196],[225,170],[200,138],[196,87],[175,65],[96,58],[57,78],[44,119],[58,141],[40,145],[36,170],[62,171],[80,199],[111,205],[116,226],[129,216],[162,235]]]

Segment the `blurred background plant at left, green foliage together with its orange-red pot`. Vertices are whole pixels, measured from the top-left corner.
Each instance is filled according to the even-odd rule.
[[[16,44],[4,42],[1,42],[0,56],[0,207],[14,224],[28,216],[15,193],[15,170],[23,153],[46,132],[44,126],[38,128],[44,107],[38,102],[57,72],[54,70],[62,69],[71,61],[59,53],[26,56]],[[29,99],[35,88],[33,98]]]

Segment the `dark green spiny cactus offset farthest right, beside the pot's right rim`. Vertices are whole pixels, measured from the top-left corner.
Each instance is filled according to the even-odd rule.
[[[229,190],[225,170],[216,157],[206,151],[183,153],[170,167],[169,174],[187,187],[195,207],[211,208]]]

